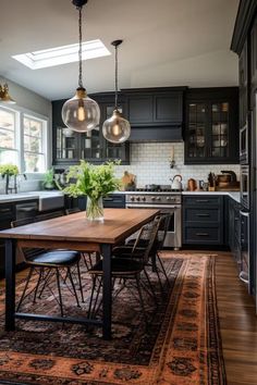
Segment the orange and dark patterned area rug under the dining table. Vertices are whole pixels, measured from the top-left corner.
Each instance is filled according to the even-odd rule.
[[[170,278],[168,295],[151,280],[158,306],[146,293],[148,326],[133,286],[113,303],[113,338],[101,330],[82,325],[16,321],[15,332],[4,332],[4,291],[0,291],[0,384],[41,385],[223,385],[224,364],[216,303],[215,256],[164,252]],[[90,278],[84,269],[84,293]],[[33,285],[36,283],[34,278]],[[17,285],[17,297],[24,282]],[[30,287],[32,288],[32,287]],[[21,311],[59,313],[54,282],[33,305],[33,295]],[[63,284],[65,314],[86,313]],[[99,313],[100,316],[100,313]]]

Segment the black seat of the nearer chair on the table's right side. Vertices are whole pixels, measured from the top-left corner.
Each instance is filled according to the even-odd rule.
[[[130,275],[142,271],[142,261],[127,259],[127,258],[112,258],[111,260],[111,275]],[[89,274],[102,274],[102,260],[97,262],[91,269],[88,270]]]

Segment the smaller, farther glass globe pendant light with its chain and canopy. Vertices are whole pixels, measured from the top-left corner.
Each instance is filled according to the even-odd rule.
[[[113,144],[122,144],[127,140],[131,135],[131,125],[118,109],[118,47],[122,40],[114,40],[111,42],[115,47],[115,107],[112,116],[102,125],[103,137]]]

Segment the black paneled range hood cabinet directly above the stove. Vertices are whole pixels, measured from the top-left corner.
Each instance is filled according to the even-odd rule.
[[[123,89],[132,133],[130,141],[182,140],[186,87]]]

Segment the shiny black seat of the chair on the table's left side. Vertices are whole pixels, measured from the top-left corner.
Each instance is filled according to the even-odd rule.
[[[37,256],[34,256],[27,260],[33,264],[51,264],[57,266],[68,266],[79,261],[81,253],[73,250],[52,250],[44,251]]]

